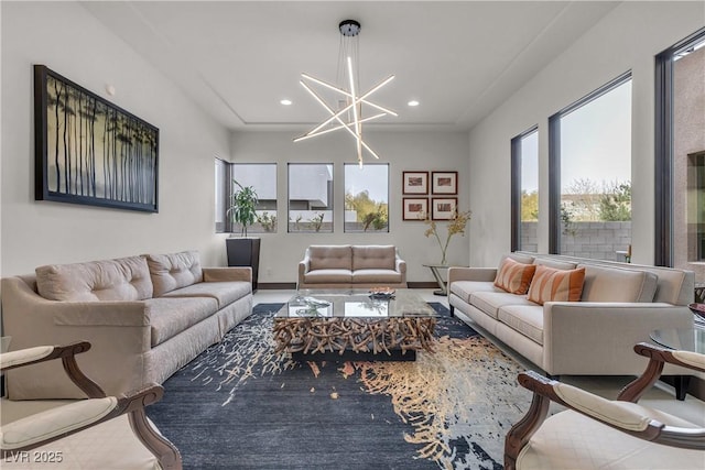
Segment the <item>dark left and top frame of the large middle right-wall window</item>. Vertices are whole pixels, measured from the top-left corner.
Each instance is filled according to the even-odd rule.
[[[631,80],[627,70],[549,117],[549,253],[561,251],[561,118]]]

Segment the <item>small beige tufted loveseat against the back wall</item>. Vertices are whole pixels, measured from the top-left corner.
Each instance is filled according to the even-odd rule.
[[[393,245],[311,245],[297,288],[406,287],[406,262]]]

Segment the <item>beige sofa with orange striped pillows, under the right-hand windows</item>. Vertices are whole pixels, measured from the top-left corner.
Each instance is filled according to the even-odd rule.
[[[633,346],[692,327],[693,287],[690,271],[549,254],[448,270],[451,311],[551,375],[643,372]]]

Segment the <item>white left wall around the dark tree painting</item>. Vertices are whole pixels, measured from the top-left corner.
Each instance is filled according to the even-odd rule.
[[[1,9],[0,273],[185,249],[199,250],[205,265],[224,264],[214,233],[213,159],[228,157],[229,132],[78,3],[2,2]],[[159,214],[34,200],[33,64],[160,129]]]

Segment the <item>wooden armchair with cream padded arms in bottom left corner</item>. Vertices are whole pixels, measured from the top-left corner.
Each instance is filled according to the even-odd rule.
[[[76,362],[75,356],[89,349],[90,343],[84,341],[0,354],[3,372],[61,359],[70,380],[88,396],[4,424],[0,429],[2,467],[181,470],[178,450],[144,413],[147,405],[162,398],[164,389],[152,384],[124,396],[106,396]]]

